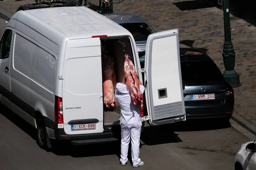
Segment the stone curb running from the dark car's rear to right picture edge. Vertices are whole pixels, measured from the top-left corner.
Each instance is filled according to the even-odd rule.
[[[233,112],[231,119],[233,119],[235,122],[237,122],[239,125],[244,127],[246,130],[248,130],[250,133],[253,133],[253,135],[256,135],[256,127],[242,118],[240,115],[238,115],[236,112]]]

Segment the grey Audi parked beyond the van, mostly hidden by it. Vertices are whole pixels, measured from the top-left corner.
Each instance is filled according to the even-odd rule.
[[[103,15],[131,32],[138,52],[145,51],[148,35],[156,32],[145,20],[135,14]]]

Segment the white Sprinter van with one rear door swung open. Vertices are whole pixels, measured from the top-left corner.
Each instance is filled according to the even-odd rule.
[[[148,37],[145,69],[133,36],[82,6],[17,11],[0,42],[0,102],[37,128],[40,147],[49,139],[72,144],[113,142],[120,108],[103,103],[102,44],[115,57],[116,80],[125,54],[140,81],[145,72],[142,121],[162,125],[186,120],[178,30]]]

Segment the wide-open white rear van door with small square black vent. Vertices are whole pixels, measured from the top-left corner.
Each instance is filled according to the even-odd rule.
[[[150,125],[186,120],[178,29],[150,34],[145,51],[145,97]]]

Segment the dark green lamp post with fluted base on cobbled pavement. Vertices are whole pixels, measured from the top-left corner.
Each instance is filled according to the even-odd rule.
[[[236,53],[234,51],[233,43],[231,41],[229,0],[223,0],[223,12],[224,12],[224,35],[225,35],[225,42],[223,45],[223,53],[222,53],[224,66],[225,66],[225,71],[223,73],[223,76],[232,87],[239,87],[241,86],[240,80],[239,80],[239,74],[237,74],[237,72],[234,70]]]

